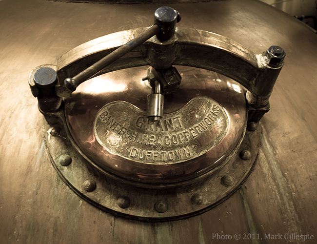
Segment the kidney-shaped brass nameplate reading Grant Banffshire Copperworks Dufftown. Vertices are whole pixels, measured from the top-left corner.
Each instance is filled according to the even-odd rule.
[[[224,109],[207,97],[192,99],[160,121],[129,102],[103,106],[94,121],[96,140],[110,153],[142,163],[178,163],[210,151],[228,131]]]

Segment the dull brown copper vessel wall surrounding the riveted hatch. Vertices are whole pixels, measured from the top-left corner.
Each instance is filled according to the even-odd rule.
[[[271,110],[262,119],[266,133],[258,163],[239,191],[196,217],[149,224],[97,210],[60,179],[45,151],[43,116],[27,83],[30,71],[56,65],[86,41],[148,26],[159,6],[0,1],[1,244],[301,243],[264,239],[268,233],[310,234],[315,238],[307,243],[316,241],[317,36],[294,17],[255,0],[170,5],[182,15],[179,27],[218,33],[255,53],[272,44],[287,53]],[[232,239],[213,239],[216,233]],[[262,240],[234,240],[245,233]]]

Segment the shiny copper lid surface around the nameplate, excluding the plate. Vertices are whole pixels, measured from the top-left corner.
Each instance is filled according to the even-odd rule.
[[[183,71],[184,81],[182,81],[178,92],[171,95],[173,99],[167,97],[166,112],[177,111],[189,102],[188,100],[197,97],[199,94],[208,97],[212,93],[216,97],[216,101],[222,98],[222,101],[221,99],[220,101],[228,117],[228,130],[215,147],[195,159],[171,164],[153,164],[127,160],[116,153],[109,152],[104,146],[99,144],[93,133],[93,123],[98,111],[104,104],[124,98],[126,102],[136,105],[139,109],[145,109],[145,97],[150,93],[151,89],[148,87],[148,84],[139,83],[142,77],[140,74],[143,74],[146,70],[144,67],[137,67],[103,75],[106,80],[104,82],[118,81],[118,79],[128,80],[127,82],[123,82],[125,83],[125,88],[122,86],[119,91],[100,92],[100,90],[95,89],[94,92],[91,92],[91,84],[94,82],[98,83],[96,81],[97,77],[91,81],[86,81],[73,94],[72,98],[65,100],[65,117],[68,128],[74,141],[83,153],[92,162],[110,174],[130,181],[151,184],[188,182],[190,179],[202,176],[209,171],[211,172],[221,162],[225,162],[226,158],[230,158],[236,146],[241,142],[241,138],[243,138],[245,132],[246,106],[241,87],[235,81],[224,76],[219,76],[212,71],[187,67],[188,71],[183,66],[180,66],[179,69],[180,72]],[[140,72],[140,70],[143,70],[143,72]],[[193,74],[193,72],[197,74]],[[199,82],[199,79],[198,82],[191,80],[191,78],[197,75],[203,77],[203,79],[199,78],[203,82]],[[216,79],[210,79],[211,75],[215,76]],[[206,76],[209,76],[208,79],[212,82],[210,80],[206,81]],[[123,79],[124,77],[129,77],[129,79]],[[218,79],[219,77],[225,81]],[[136,86],[136,82],[138,82],[139,86]],[[117,82],[116,84],[119,85],[121,83]],[[192,89],[189,89],[190,87]],[[193,89],[193,87],[196,89]],[[240,89],[239,92],[235,91],[234,88]],[[211,90],[213,89],[216,91],[218,89],[218,92],[212,92]],[[89,92],[85,93],[85,90]],[[224,94],[230,95],[224,98]],[[185,97],[186,99],[183,99],[179,103],[171,102],[178,97]],[[233,101],[236,104],[233,104]],[[218,102],[218,104],[220,103]]]

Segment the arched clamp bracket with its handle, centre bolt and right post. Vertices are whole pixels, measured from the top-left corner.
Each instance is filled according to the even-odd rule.
[[[217,34],[176,28],[179,20],[176,10],[161,7],[155,12],[155,24],[150,28],[117,32],[74,48],[58,60],[54,95],[70,97],[81,82],[96,73],[101,75],[142,65],[155,69],[186,65],[215,71],[238,81],[248,90],[246,100],[253,109],[267,106],[284,63],[285,52],[281,47],[271,46],[262,54],[254,54]],[[134,51],[129,53],[131,50]],[[46,110],[54,111],[57,107],[51,104]]]

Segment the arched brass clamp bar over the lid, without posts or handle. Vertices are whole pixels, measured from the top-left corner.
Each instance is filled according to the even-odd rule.
[[[70,91],[62,84],[67,77],[75,76],[83,69],[83,66],[91,65],[90,62],[101,59],[148,28],[119,31],[99,37],[62,55],[57,65],[59,84],[56,88],[59,96],[70,97]],[[238,81],[250,92],[263,96],[258,87],[254,85],[264,67],[258,61],[259,54],[253,53],[249,48],[224,36],[191,28],[177,27],[174,41],[177,45],[177,51],[173,65],[192,66],[218,72]],[[104,68],[98,75],[125,68],[150,65],[147,57],[148,48],[151,45],[161,44],[156,37],[152,37],[132,52]],[[195,51],[193,52],[193,50]],[[213,55],[216,50],[218,54]],[[193,61],[192,56],[195,56],[194,59],[197,61]],[[228,57],[231,57],[230,62],[227,61]],[[86,60],[83,66],[81,65],[82,59]],[[243,63],[243,65],[237,65],[238,63]]]

